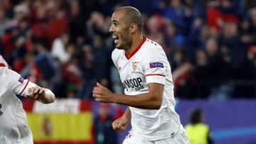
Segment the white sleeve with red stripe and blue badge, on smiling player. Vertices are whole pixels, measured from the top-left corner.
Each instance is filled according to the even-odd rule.
[[[152,48],[146,53],[143,60],[146,83],[165,84],[166,79],[166,55],[162,48]]]

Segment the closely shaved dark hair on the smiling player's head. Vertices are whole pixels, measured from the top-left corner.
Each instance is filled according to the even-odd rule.
[[[140,31],[143,30],[143,26],[144,26],[143,16],[138,9],[132,6],[122,6],[114,12],[121,11],[121,10],[124,10],[124,16],[125,18],[127,18],[127,21],[129,23],[136,23],[139,30]]]

